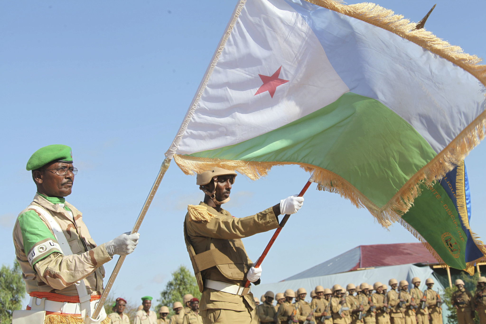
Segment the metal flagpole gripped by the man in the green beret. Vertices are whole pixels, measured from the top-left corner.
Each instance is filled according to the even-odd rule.
[[[135,222],[135,225],[133,226],[131,234],[137,233],[139,231],[143,218],[145,217],[145,214],[147,213],[147,210],[149,209],[150,204],[154,199],[155,193],[157,192],[158,186],[160,185],[160,181],[162,181],[162,178],[164,177],[164,174],[167,171],[167,169],[169,169],[170,164],[171,164],[171,159],[166,157],[164,159],[164,162],[162,162],[162,165],[160,166],[160,171],[158,172],[154,185],[152,186],[152,189],[150,190],[150,193],[147,199],[145,200],[145,204],[143,205],[143,208],[140,211],[139,218],[137,218],[137,222]],[[113,269],[113,272],[111,273],[110,278],[106,283],[106,287],[103,290],[101,299],[98,302],[98,305],[96,306],[91,318],[97,319],[98,316],[100,315],[101,309],[103,308],[104,305],[104,301],[106,300],[106,297],[108,296],[108,293],[110,292],[111,287],[113,286],[113,283],[115,282],[115,279],[117,278],[117,275],[120,272],[120,268],[124,260],[125,260],[125,256],[120,256],[118,258],[117,264],[115,265],[115,269]]]

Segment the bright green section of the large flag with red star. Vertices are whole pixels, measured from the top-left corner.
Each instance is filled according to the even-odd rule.
[[[348,92],[271,132],[190,155],[312,164],[346,179],[381,208],[436,153],[381,102]]]

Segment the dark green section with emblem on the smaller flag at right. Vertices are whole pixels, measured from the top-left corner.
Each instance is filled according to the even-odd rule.
[[[451,268],[466,269],[466,234],[451,198],[439,182],[415,198],[414,206],[401,217],[429,243]]]

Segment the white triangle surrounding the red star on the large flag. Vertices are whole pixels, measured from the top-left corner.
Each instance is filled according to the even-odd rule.
[[[259,74],[279,67],[279,85],[255,95]],[[210,69],[209,69],[210,71]],[[191,154],[236,144],[304,117],[349,89],[301,15],[284,1],[247,0],[191,120],[166,153]],[[184,125],[183,125],[184,126]]]

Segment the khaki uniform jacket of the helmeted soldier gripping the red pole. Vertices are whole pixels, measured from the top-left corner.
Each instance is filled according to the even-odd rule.
[[[217,265],[203,270],[200,272],[201,278],[196,275],[196,279],[202,280],[203,285],[206,279],[210,279],[243,287],[246,273],[253,262],[246,254],[241,239],[278,228],[277,217],[272,207],[253,216],[235,218],[224,209],[218,212],[203,202],[199,205],[205,206],[208,213],[213,216],[208,221],[198,221],[192,220],[189,212],[186,214],[187,239],[195,254],[218,249],[234,263]],[[242,298],[246,299],[247,304],[253,309],[255,302],[251,293],[239,296],[219,290],[205,289],[201,296],[199,311],[209,308],[246,311]]]

